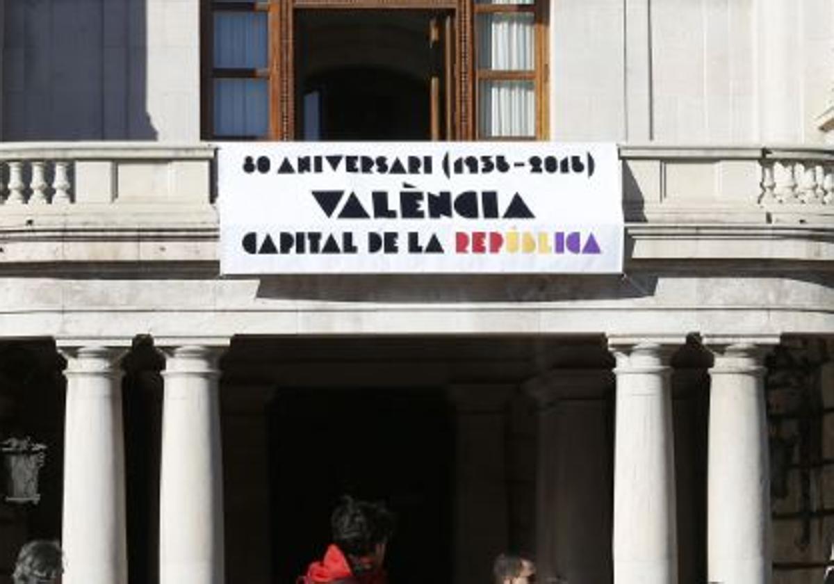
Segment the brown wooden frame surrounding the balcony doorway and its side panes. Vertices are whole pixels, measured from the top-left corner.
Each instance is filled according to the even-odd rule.
[[[450,36],[455,50],[450,78],[450,116],[453,140],[479,138],[476,95],[481,78],[533,78],[535,81],[535,138],[546,139],[548,130],[547,108],[547,3],[534,0],[534,4],[480,4],[475,0],[266,0],[264,2],[224,2],[201,0],[201,135],[203,139],[268,139],[294,140],[295,128],[295,63],[294,19],[298,10],[430,10],[453,13],[454,25]],[[268,67],[262,69],[214,68],[214,13],[266,12],[268,13],[269,56]],[[501,72],[477,70],[475,67],[475,15],[477,13],[532,12],[535,14],[535,71]],[[269,133],[266,136],[215,136],[214,135],[214,79],[216,78],[266,78],[269,81]],[[489,138],[510,139],[510,138]]]

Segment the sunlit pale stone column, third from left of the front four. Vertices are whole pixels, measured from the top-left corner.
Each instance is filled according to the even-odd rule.
[[[610,341],[616,357],[614,582],[676,584],[671,345]]]

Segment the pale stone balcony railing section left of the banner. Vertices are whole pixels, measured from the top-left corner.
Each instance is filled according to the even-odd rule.
[[[209,204],[213,160],[206,145],[0,143],[0,202]]]

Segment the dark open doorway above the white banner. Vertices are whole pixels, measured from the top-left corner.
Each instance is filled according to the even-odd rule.
[[[427,140],[440,78],[428,10],[299,10],[296,126],[306,140]],[[434,103],[434,105],[433,105]]]

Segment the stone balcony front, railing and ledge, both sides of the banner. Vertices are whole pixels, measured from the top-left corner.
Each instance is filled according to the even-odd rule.
[[[626,262],[834,259],[834,152],[623,145]],[[0,263],[217,260],[214,147],[0,144]]]

